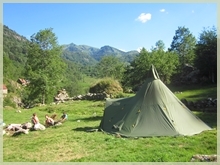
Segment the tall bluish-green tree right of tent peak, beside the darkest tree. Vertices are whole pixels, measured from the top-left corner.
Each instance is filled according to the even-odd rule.
[[[188,28],[178,27],[171,43],[169,51],[176,52],[179,56],[180,66],[186,63],[193,65],[195,59],[194,48],[196,38],[190,33]]]

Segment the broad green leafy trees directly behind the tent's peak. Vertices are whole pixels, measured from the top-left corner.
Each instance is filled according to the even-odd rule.
[[[162,41],[160,41],[160,44],[162,44]],[[151,52],[143,48],[139,56],[126,68],[123,86],[135,88],[141,85],[146,80],[147,73],[152,64],[156,67],[161,80],[169,84],[171,76],[176,73],[176,68],[179,66],[179,60],[176,53],[165,52],[162,45],[161,48],[158,47]]]

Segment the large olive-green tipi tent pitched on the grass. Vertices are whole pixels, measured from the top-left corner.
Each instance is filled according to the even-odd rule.
[[[153,65],[135,96],[106,101],[100,129],[126,137],[194,135],[211,130],[166,87]]]

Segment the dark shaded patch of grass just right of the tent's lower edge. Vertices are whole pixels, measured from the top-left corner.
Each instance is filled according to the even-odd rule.
[[[203,122],[205,122],[211,128],[217,128],[217,113],[203,113],[196,114]]]

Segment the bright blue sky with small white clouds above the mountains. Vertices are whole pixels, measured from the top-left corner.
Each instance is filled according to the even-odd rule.
[[[179,26],[196,37],[203,28],[217,27],[216,3],[4,3],[3,24],[30,36],[53,28],[58,43],[109,45],[124,51],[158,40],[166,49]]]

